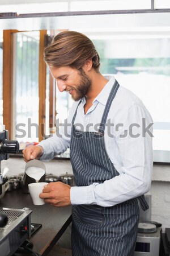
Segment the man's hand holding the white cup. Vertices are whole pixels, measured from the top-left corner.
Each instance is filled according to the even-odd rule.
[[[70,188],[69,185],[60,181],[50,182],[40,193],[40,198],[54,207],[64,207],[71,204]]]

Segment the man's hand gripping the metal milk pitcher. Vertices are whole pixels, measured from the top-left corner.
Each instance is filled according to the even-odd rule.
[[[44,150],[41,146],[28,146],[23,150],[23,158],[25,162],[28,162],[33,159],[40,159],[40,156],[43,154]]]

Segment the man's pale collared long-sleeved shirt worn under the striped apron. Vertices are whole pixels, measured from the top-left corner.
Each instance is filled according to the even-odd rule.
[[[73,104],[66,126],[60,127],[57,135],[39,143],[44,148],[41,160],[53,159],[55,155],[61,154],[70,146],[71,121],[77,106],[74,122],[76,129],[96,131],[114,81],[114,77],[111,77],[86,114],[83,108],[86,98],[82,99],[79,106],[79,102]],[[120,175],[102,184],[71,187],[71,204],[97,204],[109,207],[143,195],[150,189],[152,176],[150,113],[134,93],[120,86],[107,120],[104,135],[105,149]]]

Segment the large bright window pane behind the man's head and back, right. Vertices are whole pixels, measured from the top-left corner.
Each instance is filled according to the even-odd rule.
[[[114,75],[142,99],[154,119],[154,150],[170,150],[169,34],[123,34],[99,35],[99,40],[91,35],[100,55],[100,71]]]

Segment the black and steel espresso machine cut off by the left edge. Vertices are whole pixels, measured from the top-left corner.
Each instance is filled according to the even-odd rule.
[[[1,174],[1,161],[9,154],[19,152],[18,141],[8,140],[8,131],[0,125],[0,195],[5,182]],[[1,201],[1,199],[0,199]],[[10,256],[31,237],[31,212],[28,208],[13,209],[0,207],[0,254]]]

